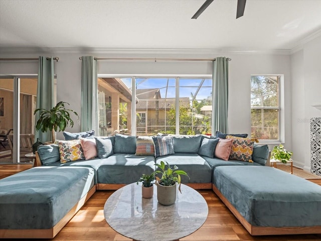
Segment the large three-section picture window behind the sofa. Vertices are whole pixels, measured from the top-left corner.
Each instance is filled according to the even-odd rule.
[[[132,83],[135,91],[132,91]],[[99,77],[98,92],[101,136],[110,135],[115,130],[136,135],[212,132],[210,77]],[[133,101],[135,111],[132,113]],[[135,115],[134,130],[131,115]]]

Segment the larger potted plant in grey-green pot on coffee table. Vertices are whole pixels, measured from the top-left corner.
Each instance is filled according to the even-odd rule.
[[[161,164],[156,163],[155,166],[158,167],[155,173],[161,173],[161,178],[155,177],[157,180],[157,200],[163,205],[171,205],[176,201],[177,183],[182,193],[181,175],[188,176],[188,174],[183,170],[178,170],[176,165],[172,168],[169,163],[165,164],[164,161],[161,161]]]

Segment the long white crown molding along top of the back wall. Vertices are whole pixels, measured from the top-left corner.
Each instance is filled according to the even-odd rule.
[[[110,55],[289,55],[290,50],[242,50],[242,49],[134,49],[134,48],[39,48],[2,47],[0,54],[110,54]]]

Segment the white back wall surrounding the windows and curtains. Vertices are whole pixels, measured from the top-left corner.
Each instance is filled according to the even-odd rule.
[[[80,56],[137,57],[137,58],[213,58],[226,56],[229,62],[229,130],[230,133],[250,133],[250,76],[252,74],[283,74],[285,85],[285,146],[291,148],[291,77],[289,55],[277,54],[224,54],[212,53],[52,53],[2,54],[1,58],[37,58],[39,55],[58,56],[55,63],[57,74],[57,101],[70,103],[70,108],[80,114],[81,109],[81,61]],[[0,62],[0,74],[37,74],[37,62]],[[212,74],[211,62],[164,62],[164,61],[98,61],[99,74]],[[80,131],[76,123],[73,129]],[[57,138],[62,138],[58,133]],[[270,145],[270,148],[273,145]]]

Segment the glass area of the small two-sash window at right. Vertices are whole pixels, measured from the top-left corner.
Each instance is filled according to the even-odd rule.
[[[251,76],[251,137],[280,139],[280,76]]]

